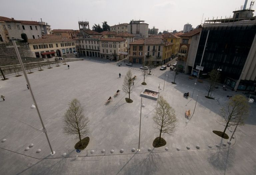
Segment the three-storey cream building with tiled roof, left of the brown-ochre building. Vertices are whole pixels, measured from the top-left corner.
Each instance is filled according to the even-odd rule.
[[[118,38],[101,38],[100,55],[103,59],[118,61],[126,58],[127,41],[121,37]]]

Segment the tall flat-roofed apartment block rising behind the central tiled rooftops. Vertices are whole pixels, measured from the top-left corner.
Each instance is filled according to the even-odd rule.
[[[148,37],[148,24],[145,21],[132,20],[127,25],[127,32],[135,35],[135,38],[147,38]]]

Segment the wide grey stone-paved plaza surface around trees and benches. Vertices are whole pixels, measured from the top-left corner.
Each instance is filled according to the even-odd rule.
[[[122,66],[118,67],[118,62],[88,58],[68,62],[70,69],[60,64],[60,67],[53,65],[53,69],[45,67],[43,71],[33,70],[33,74],[28,74],[56,152],[54,155],[50,155],[36,109],[30,108],[33,100],[24,76],[11,75],[9,80],[1,81],[0,94],[5,96],[5,101],[0,100],[0,140],[6,141],[0,142],[0,174],[256,173],[255,103],[250,104],[250,116],[245,125],[238,128],[229,145],[227,139],[215,135],[212,130],[224,130],[219,124],[220,108],[228,101],[227,95],[241,92],[224,91],[220,87],[212,92],[215,100],[207,99],[204,97],[207,82],[197,83],[195,87],[195,80],[179,74],[175,81],[177,85],[174,85],[171,84],[173,71],[160,71],[159,68],[152,70],[152,75],[145,80],[147,85],[143,86],[141,65],[129,67],[120,63]],[[129,69],[137,76],[131,93],[133,103],[126,103],[128,94],[122,90]],[[152,142],[159,136],[152,119],[157,101],[143,97],[140,151],[132,152],[132,148],[138,149],[139,142],[140,93],[144,88],[158,91],[159,83],[160,95],[175,109],[177,130],[173,135],[163,135],[167,142],[165,146],[153,148]],[[121,93],[114,97],[117,89]],[[183,97],[185,92],[190,93],[188,99]],[[105,104],[109,96],[113,101]],[[87,151],[81,153],[74,149],[78,139],[65,135],[62,130],[63,115],[73,98],[80,100],[84,114],[90,120],[90,132],[85,135],[90,137],[90,142]],[[185,110],[189,109],[191,118],[187,120]],[[229,137],[232,135],[232,131],[226,133]],[[31,143],[34,146],[25,151]],[[41,152],[36,153],[38,149]],[[112,149],[113,153],[110,152]],[[91,150],[94,153],[90,153]],[[65,157],[63,153],[66,153]]]

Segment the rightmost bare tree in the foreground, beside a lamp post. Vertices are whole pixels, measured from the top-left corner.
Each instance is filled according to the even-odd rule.
[[[221,116],[223,118],[223,125],[225,129],[222,136],[224,136],[226,129],[234,125],[244,124],[244,120],[249,113],[248,99],[243,95],[235,95],[221,108]]]

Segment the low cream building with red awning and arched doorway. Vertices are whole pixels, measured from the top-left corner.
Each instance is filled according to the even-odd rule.
[[[75,40],[69,38],[47,38],[28,39],[28,45],[36,58],[77,57]]]

